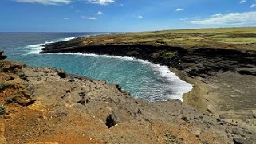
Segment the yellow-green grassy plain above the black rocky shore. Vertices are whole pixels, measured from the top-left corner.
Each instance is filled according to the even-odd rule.
[[[85,37],[89,45],[154,45],[193,48],[240,49],[256,51],[256,27],[221,29],[182,29],[142,33],[119,33]],[[80,45],[83,45],[80,44]],[[134,53],[130,53],[134,54]]]

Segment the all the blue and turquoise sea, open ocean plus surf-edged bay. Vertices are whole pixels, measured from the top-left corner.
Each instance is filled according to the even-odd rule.
[[[5,51],[8,60],[61,68],[80,76],[120,84],[139,99],[182,100],[183,93],[191,91],[191,84],[179,80],[167,67],[144,60],[81,53],[38,54],[41,44],[96,34],[99,33],[0,33],[0,49]]]

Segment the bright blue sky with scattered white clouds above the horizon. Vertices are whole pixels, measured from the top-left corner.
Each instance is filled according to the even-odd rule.
[[[0,32],[256,26],[256,0],[1,0]]]

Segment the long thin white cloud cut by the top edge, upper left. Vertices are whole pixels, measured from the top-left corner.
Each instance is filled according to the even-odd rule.
[[[16,0],[16,2],[39,3],[43,5],[69,4],[72,0]]]

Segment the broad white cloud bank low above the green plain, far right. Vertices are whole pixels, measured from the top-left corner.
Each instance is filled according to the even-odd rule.
[[[210,18],[191,21],[196,25],[243,26],[256,25],[256,11],[244,13],[215,14]]]

